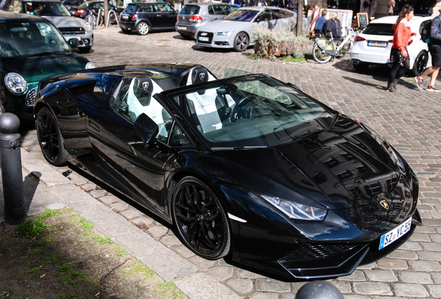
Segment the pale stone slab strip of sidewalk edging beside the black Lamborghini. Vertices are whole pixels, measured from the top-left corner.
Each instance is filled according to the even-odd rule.
[[[45,209],[54,210],[69,206],[81,217],[91,221],[97,230],[112,238],[116,244],[128,252],[133,252],[134,257],[155,270],[161,278],[173,281],[189,298],[241,298],[210,275],[200,273],[198,266],[183,259],[105,204],[99,203],[66,176],[23,148],[21,166],[28,216],[39,214]],[[0,185],[1,217],[4,212],[1,175]],[[3,217],[0,218],[1,221]]]

